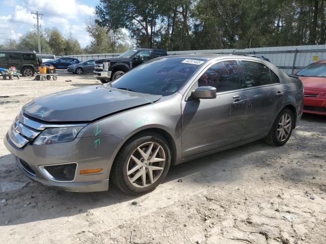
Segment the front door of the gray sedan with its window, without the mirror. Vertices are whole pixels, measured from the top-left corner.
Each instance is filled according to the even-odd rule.
[[[247,94],[236,60],[211,65],[192,90],[198,86],[216,87],[216,98],[182,102],[182,158],[239,142],[243,135]]]

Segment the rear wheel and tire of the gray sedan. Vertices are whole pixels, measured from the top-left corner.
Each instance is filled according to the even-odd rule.
[[[282,120],[283,118],[284,120]],[[288,119],[291,119],[290,122],[287,122]],[[294,123],[293,112],[288,108],[284,108],[277,115],[274,124],[271,127],[268,135],[264,138],[264,141],[269,145],[283,146],[289,140],[292,134],[293,123]]]

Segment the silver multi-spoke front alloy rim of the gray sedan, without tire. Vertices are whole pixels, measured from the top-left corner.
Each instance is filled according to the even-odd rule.
[[[146,142],[138,146],[131,154],[127,164],[127,177],[130,184],[145,188],[154,184],[162,174],[166,162],[166,153],[156,142]]]

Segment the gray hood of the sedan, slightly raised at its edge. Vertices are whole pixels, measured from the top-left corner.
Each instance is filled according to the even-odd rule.
[[[160,95],[91,85],[36,98],[23,106],[31,117],[47,122],[93,121],[99,117],[155,102]]]

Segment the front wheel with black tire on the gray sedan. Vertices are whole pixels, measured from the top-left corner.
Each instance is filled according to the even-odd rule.
[[[149,155],[154,154],[157,150],[156,156],[159,154],[159,158],[155,156],[155,159],[162,159],[161,161],[150,162],[150,157],[147,161],[144,161],[138,148],[141,148],[140,150],[146,155],[150,145],[152,145],[152,150]],[[134,158],[138,159],[138,163]],[[165,138],[154,132],[141,133],[130,138],[122,146],[112,166],[110,178],[126,194],[142,195],[154,190],[164,180],[169,171],[170,164],[171,153]],[[129,175],[128,170],[131,172]],[[152,174],[152,177],[150,177],[150,174]],[[145,175],[145,186],[143,175]],[[134,181],[131,182],[133,178]]]

